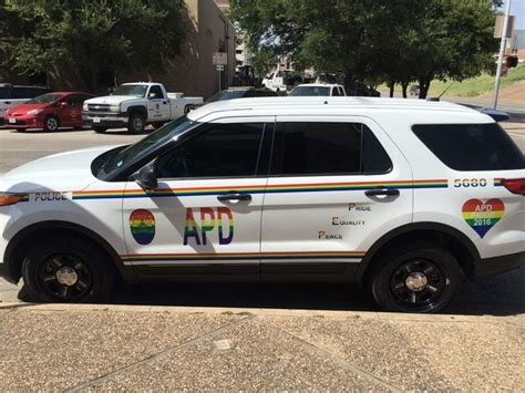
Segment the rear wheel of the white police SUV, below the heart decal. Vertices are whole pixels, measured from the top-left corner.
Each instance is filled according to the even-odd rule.
[[[372,294],[385,311],[439,312],[457,291],[456,258],[433,245],[387,252],[371,277]]]

